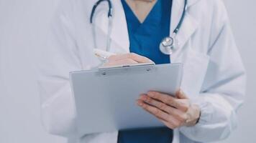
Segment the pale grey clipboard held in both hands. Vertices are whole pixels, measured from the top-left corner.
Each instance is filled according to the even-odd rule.
[[[149,91],[174,95],[182,71],[183,64],[142,64],[70,72],[78,134],[163,127],[136,101]]]

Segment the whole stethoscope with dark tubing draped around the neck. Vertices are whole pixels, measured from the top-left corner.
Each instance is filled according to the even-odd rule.
[[[97,6],[99,6],[99,4],[101,4],[102,1],[106,1],[109,4],[109,11],[108,11],[109,29],[108,29],[108,33],[107,33],[107,44],[106,44],[106,51],[109,51],[110,43],[111,43],[110,34],[111,34],[111,24],[112,24],[112,16],[113,16],[113,6],[112,6],[112,3],[110,0],[99,0],[94,4],[93,9],[91,11],[90,23],[93,24],[93,15],[96,11]],[[185,0],[185,4],[183,7],[183,13],[181,15],[180,21],[178,22],[178,25],[176,26],[176,28],[173,31],[173,34],[171,36],[165,37],[160,42],[159,49],[163,54],[170,55],[170,54],[173,54],[173,52],[176,49],[178,49],[178,40],[176,39],[176,35],[178,34],[178,31],[180,30],[180,27],[183,24],[183,20],[185,18],[187,1],[188,0]],[[93,27],[94,27],[94,24],[93,24]],[[93,28],[93,37],[94,37],[94,39],[93,39],[94,46],[96,46],[96,32],[95,32],[94,28]]]

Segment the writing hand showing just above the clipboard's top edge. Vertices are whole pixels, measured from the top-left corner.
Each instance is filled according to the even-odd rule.
[[[150,59],[145,56],[140,56],[139,54],[129,53],[129,54],[117,54],[109,57],[110,61],[118,61],[121,59],[132,59],[138,63],[153,63]]]

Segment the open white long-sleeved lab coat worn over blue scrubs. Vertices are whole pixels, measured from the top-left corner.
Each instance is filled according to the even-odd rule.
[[[91,69],[100,64],[93,55],[93,32],[89,24],[96,0],[65,0],[53,17],[51,40],[40,51],[38,84],[42,122],[48,132],[70,142],[116,143],[118,132],[76,134],[76,108],[70,91],[69,71]],[[114,6],[111,49],[129,52],[127,23],[121,1]],[[184,0],[173,0],[171,31],[183,12]],[[106,48],[107,4],[96,11],[96,43]],[[170,32],[172,33],[172,32]],[[188,10],[177,39],[180,48],[170,59],[184,64],[181,89],[201,107],[194,127],[175,129],[173,143],[216,142],[237,126],[236,111],[243,102],[245,72],[221,0],[188,0]]]

